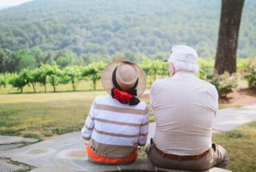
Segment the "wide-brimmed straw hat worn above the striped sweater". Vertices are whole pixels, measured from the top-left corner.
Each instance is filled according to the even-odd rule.
[[[102,86],[111,95],[113,86],[112,76],[116,69],[116,82],[123,91],[131,89],[138,80],[137,96],[143,94],[146,88],[146,75],[138,65],[130,61],[113,61],[103,70],[101,75]]]

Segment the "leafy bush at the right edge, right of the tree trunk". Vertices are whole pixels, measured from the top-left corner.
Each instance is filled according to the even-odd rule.
[[[248,61],[248,66],[244,68],[244,78],[249,88],[256,89],[256,58]]]

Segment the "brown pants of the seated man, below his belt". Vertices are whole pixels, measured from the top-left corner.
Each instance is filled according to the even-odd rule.
[[[199,160],[179,161],[165,158],[154,149],[154,143],[147,144],[145,151],[153,164],[167,169],[203,171],[210,169],[212,166],[226,169],[229,160],[227,151],[217,144],[212,144],[209,153]]]

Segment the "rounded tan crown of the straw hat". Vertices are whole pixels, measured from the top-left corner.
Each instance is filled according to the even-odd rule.
[[[120,63],[116,69],[116,82],[123,90],[134,87],[138,79],[136,66],[129,63]]]

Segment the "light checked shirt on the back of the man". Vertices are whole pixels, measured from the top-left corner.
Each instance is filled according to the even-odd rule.
[[[216,88],[190,72],[157,80],[150,92],[156,120],[154,143],[165,153],[198,155],[212,146]]]

